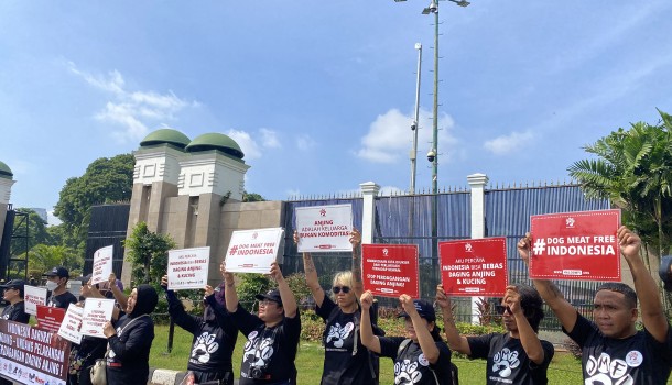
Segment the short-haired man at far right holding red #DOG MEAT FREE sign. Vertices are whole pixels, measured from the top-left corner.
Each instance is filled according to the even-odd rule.
[[[672,366],[672,332],[663,312],[658,287],[639,253],[641,240],[625,226],[617,232],[635,290],[622,283],[605,283],[594,298],[594,321],[587,320],[546,279],[532,279],[544,301],[560,320],[563,331],[582,348],[586,384],[665,384]],[[532,234],[518,242],[518,252],[529,264]],[[638,331],[637,300],[643,329]]]

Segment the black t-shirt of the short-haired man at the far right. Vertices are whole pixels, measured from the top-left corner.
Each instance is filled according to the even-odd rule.
[[[597,324],[578,315],[572,332],[582,348],[586,384],[664,385],[672,366],[672,330],[661,343],[644,329],[625,339],[605,337]]]

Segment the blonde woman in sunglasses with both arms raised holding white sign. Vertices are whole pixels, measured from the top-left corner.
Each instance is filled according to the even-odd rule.
[[[299,243],[296,231],[294,243]],[[360,243],[361,234],[353,229],[353,271],[336,273],[330,290],[333,299],[319,286],[311,253],[303,253],[306,284],[317,305],[315,312],[326,323],[323,334],[325,354],[322,385],[378,383],[378,361],[369,355],[359,337],[361,310],[357,298],[362,293]]]

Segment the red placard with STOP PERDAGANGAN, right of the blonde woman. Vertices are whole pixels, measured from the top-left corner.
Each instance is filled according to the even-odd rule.
[[[420,297],[416,244],[362,244],[361,254],[365,290],[383,297]]]

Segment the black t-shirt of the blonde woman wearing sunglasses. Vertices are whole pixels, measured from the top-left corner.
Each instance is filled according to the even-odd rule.
[[[325,353],[321,384],[375,384],[368,350],[359,336],[355,336],[359,331],[361,312],[345,314],[327,296],[315,312],[327,322],[323,336]]]

